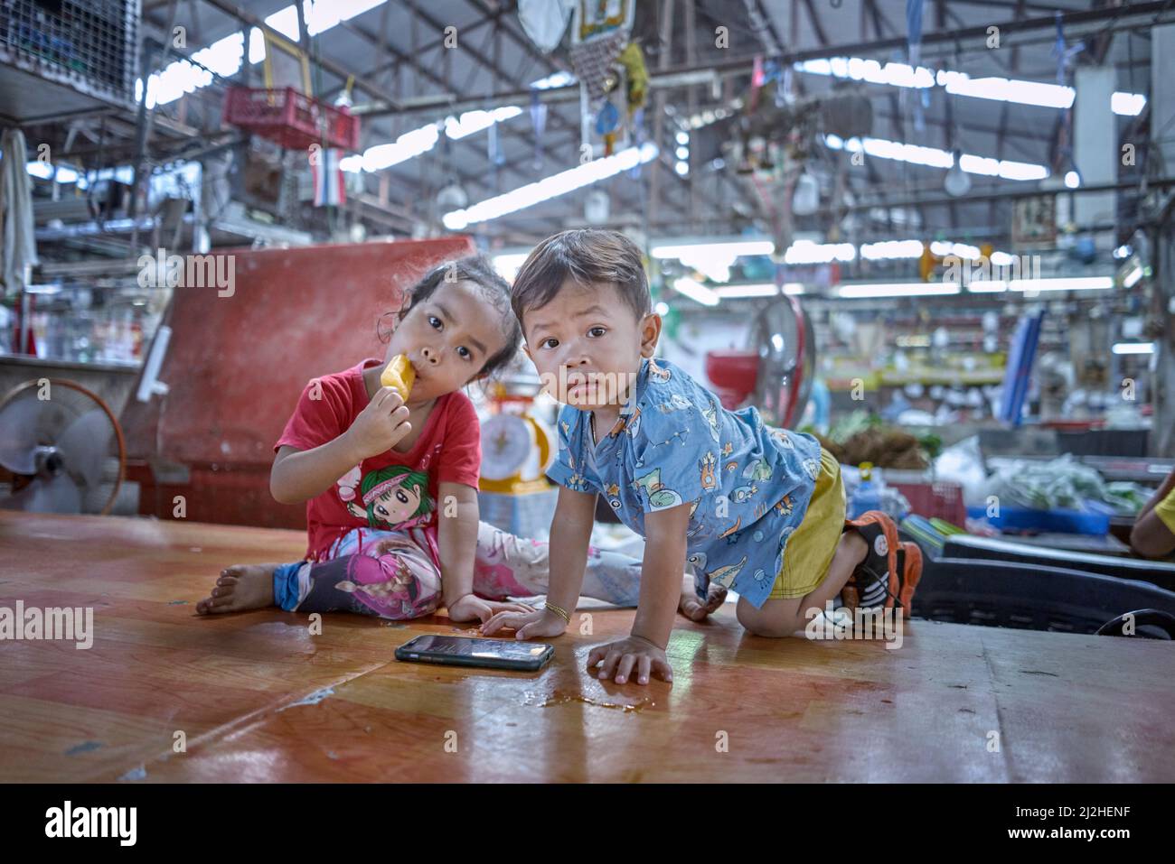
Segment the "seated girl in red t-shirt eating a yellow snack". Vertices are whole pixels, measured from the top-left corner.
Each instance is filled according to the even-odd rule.
[[[481,427],[461,392],[513,357],[510,289],[482,257],[430,271],[405,297],[387,356],[311,380],[274,445],[270,491],[307,502],[306,559],[222,571],[201,614],[280,606],[454,621],[529,610],[508,596],[546,590],[546,545],[478,521]],[[380,384],[405,355],[404,403]],[[592,549],[584,593],[634,605],[639,560]]]

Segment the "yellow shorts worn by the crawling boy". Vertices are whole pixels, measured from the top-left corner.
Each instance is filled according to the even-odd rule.
[[[828,575],[828,565],[837,553],[845,527],[845,484],[840,465],[827,450],[820,448],[820,475],[804,521],[788,538],[784,565],[771,587],[768,600],[801,598],[814,590]]]

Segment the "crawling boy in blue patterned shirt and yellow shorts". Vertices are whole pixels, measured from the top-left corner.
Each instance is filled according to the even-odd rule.
[[[564,404],[548,472],[562,488],[545,608],[499,613],[483,633],[564,632],[599,494],[645,538],[632,633],[588,659],[590,669],[602,663],[600,679],[672,680],[665,647],[674,612],[701,616],[683,592],[684,563],[706,599],[703,614],[731,587],[739,622],[760,636],[791,635],[838,594],[852,607],[908,609],[921,575],[916,547],[899,544],[884,513],[846,522],[839,466],[813,437],[772,428],[754,407],[726,411],[680,369],[653,359],[662,322],[640,250],[624,235],[548,237],[519,269],[511,303],[544,389]]]

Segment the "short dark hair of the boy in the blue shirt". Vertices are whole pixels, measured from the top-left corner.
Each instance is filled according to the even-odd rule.
[[[585,286],[612,283],[638,319],[652,310],[637,244],[619,231],[576,228],[551,235],[526,256],[510,291],[515,317],[545,306],[569,278]]]

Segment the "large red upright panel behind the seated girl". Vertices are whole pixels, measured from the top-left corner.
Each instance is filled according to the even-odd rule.
[[[303,505],[269,495],[273,445],[302,389],[383,357],[380,316],[429,268],[472,251],[468,237],[241,250],[231,296],[176,288],[159,376],[170,390],[143,404],[136,385],[120,419],[139,512],[175,519],[182,495],[189,520],[304,527]]]

